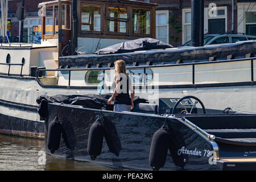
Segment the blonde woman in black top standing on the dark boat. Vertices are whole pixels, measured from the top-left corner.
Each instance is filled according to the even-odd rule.
[[[115,61],[115,89],[108,104],[114,100],[114,111],[131,111],[133,109],[134,89],[131,78],[126,73],[126,64],[123,60]],[[131,97],[129,95],[131,92]]]

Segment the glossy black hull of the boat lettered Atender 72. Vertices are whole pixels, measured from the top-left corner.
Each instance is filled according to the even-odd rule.
[[[118,133],[121,141],[122,150],[119,156],[115,156],[109,152],[106,140],[103,141],[101,155],[97,156],[95,160],[88,155],[88,134],[90,126],[97,120],[101,110],[86,109],[71,105],[48,104],[48,115],[46,118],[46,152],[51,155],[56,155],[62,158],[72,158],[75,160],[82,160],[86,162],[103,164],[116,168],[128,168],[137,170],[151,170],[148,159],[150,155],[150,147],[152,137],[158,129],[163,125],[166,117],[154,114],[142,113],[118,113],[113,111],[102,110],[106,118],[111,121]],[[58,150],[51,153],[47,146],[48,127],[49,123],[55,117],[59,121],[69,122],[72,126],[73,137],[69,135],[69,141],[72,141],[75,150],[67,148],[63,137],[60,140],[60,147]],[[161,170],[221,170],[223,163],[217,162],[210,164],[209,151],[216,150],[217,143],[213,140],[207,139],[205,135],[193,129],[187,123],[179,118],[168,118],[168,126],[171,126],[176,136],[179,136],[179,150],[177,154],[181,155],[185,150],[191,151],[190,154],[184,155],[185,165],[183,168],[174,164],[174,158],[168,151],[166,163]],[[69,130],[70,131],[70,130]]]

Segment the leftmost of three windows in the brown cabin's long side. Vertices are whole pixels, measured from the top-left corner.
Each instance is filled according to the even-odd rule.
[[[101,7],[82,5],[81,30],[101,31]]]

